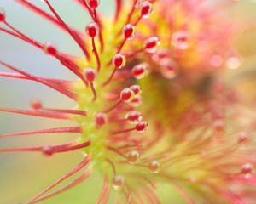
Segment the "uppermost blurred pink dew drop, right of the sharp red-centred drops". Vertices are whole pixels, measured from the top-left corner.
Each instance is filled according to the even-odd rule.
[[[189,48],[189,33],[187,31],[176,31],[172,34],[172,46],[177,49]]]

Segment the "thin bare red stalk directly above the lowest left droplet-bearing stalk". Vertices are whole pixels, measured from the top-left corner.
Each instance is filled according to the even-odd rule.
[[[81,127],[56,127],[50,129],[42,129],[37,131],[30,131],[30,132],[23,132],[23,133],[7,133],[7,134],[0,134],[0,138],[7,138],[7,137],[15,137],[15,136],[25,136],[25,135],[32,135],[32,134],[45,134],[45,133],[81,133]]]

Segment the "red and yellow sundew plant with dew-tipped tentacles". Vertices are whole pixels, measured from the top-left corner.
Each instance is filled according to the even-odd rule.
[[[1,139],[38,133],[79,135],[67,144],[0,150],[39,152],[44,156],[73,150],[83,153],[84,159],[76,167],[27,203],[59,195],[94,172],[104,179],[98,204],[108,203],[113,191],[117,191],[114,203],[166,203],[156,190],[163,183],[175,189],[169,201],[176,199],[176,194],[189,204],[241,204],[255,198],[255,190],[247,188],[256,184],[255,158],[250,156],[253,116],[245,114],[245,118],[241,108],[236,110],[240,107],[236,94],[216,78],[224,66],[212,59],[217,59],[212,50],[220,43],[213,34],[221,29],[204,24],[215,19],[211,21],[213,11],[202,1],[194,1],[201,9],[191,10],[191,3],[183,1],[134,0],[124,5],[116,0],[115,14],[109,18],[97,12],[98,0],[75,0],[92,21],[83,31],[68,26],[49,0],[43,1],[49,13],[29,1],[16,2],[67,32],[83,53],[83,57],[71,56],[53,42],[38,42],[17,30],[1,9],[0,31],[42,50],[78,77],[76,82],[38,77],[0,61],[15,72],[0,72],[1,77],[39,82],[77,104],[74,109],[50,109],[33,100],[30,110],[0,109],[78,124],[0,135]],[[176,19],[166,12],[166,6]],[[212,35],[207,36],[206,29]],[[228,40],[225,46],[230,48]],[[218,50],[218,57],[226,59],[229,52]],[[202,71],[202,67],[211,65],[217,65],[218,71]],[[80,171],[80,176],[61,185]]]

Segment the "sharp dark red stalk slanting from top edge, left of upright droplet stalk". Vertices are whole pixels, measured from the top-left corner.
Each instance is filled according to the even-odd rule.
[[[55,15],[55,17],[57,18],[57,20],[60,21],[61,25],[67,30],[67,32],[70,34],[71,37],[73,37],[73,40],[75,42],[77,42],[77,44],[79,45],[79,47],[82,49],[82,51],[84,52],[84,56],[86,57],[86,59],[90,60],[90,54],[87,51],[87,49],[84,46],[84,41],[79,37],[78,33],[76,33],[75,31],[73,31],[69,26],[67,26],[67,24],[61,19],[61,16],[59,14],[57,14],[57,12],[55,11],[55,8],[53,8],[51,6],[51,4],[49,3],[49,0],[44,0],[44,2],[48,5],[50,11]]]

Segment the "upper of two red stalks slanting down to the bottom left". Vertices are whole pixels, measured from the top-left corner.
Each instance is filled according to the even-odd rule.
[[[32,198],[31,201],[28,201],[28,204],[32,204],[34,203],[34,201],[38,200],[38,198],[42,195],[44,195],[46,192],[48,192],[49,190],[52,190],[57,184],[61,184],[61,182],[63,182],[64,180],[66,180],[67,178],[73,176],[73,174],[79,172],[80,169],[82,169],[83,167],[85,167],[88,163],[89,163],[90,159],[89,157],[85,157],[83,161],[81,161],[76,167],[74,167],[73,169],[71,169],[68,173],[66,173],[64,176],[62,176],[61,178],[59,178],[54,184],[49,185],[49,187],[47,187],[45,190],[43,190],[42,192],[40,192],[38,195],[36,195],[35,197]]]

